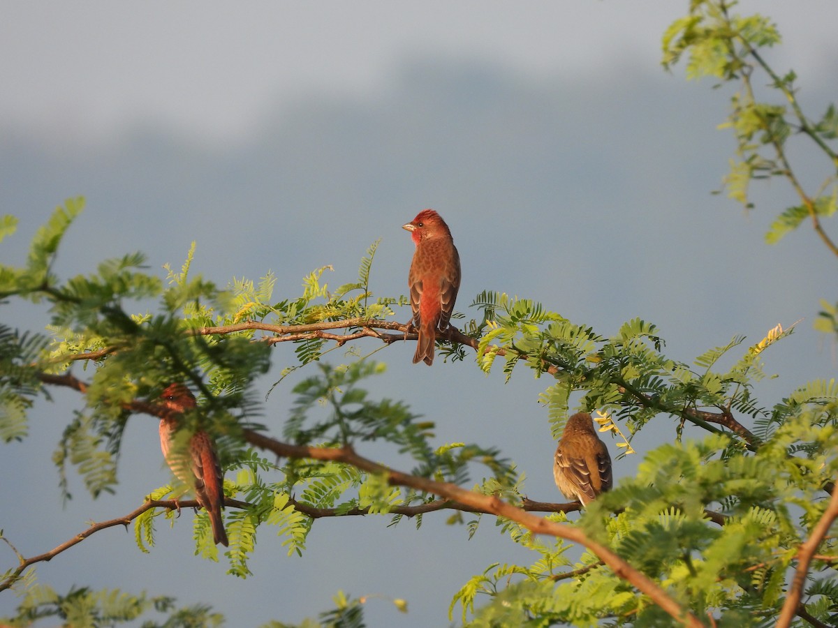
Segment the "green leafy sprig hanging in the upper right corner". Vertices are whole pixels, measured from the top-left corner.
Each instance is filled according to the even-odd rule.
[[[776,244],[801,224],[809,223],[827,250],[838,257],[838,245],[822,221],[838,208],[838,111],[826,107],[820,117],[807,115],[798,100],[797,75],[773,69],[764,49],[780,43],[778,28],[761,15],[731,13],[736,3],[724,0],[692,0],[690,14],[675,20],[663,38],[664,67],[670,69],[687,57],[686,74],[691,79],[710,76],[721,83],[737,85],[731,96],[730,114],[720,128],[729,128],[737,141],[737,158],[724,178],[727,193],[746,208],[753,181],[778,179],[793,190],[798,203],[782,210],[765,240]],[[767,82],[763,94],[760,84]],[[793,167],[791,155],[807,151],[820,158],[820,184],[809,188]],[[815,172],[820,175],[820,172]],[[824,310],[815,328],[838,338],[835,308],[822,301]]]

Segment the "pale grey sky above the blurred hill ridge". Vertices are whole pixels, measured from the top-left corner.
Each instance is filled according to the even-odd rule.
[[[365,97],[408,54],[527,75],[654,67],[685,2],[4,3],[0,120],[50,138],[158,120],[235,140],[311,90]],[[744,2],[782,24],[784,61],[834,69],[835,3]]]

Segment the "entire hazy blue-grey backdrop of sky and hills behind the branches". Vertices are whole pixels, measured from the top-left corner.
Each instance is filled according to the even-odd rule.
[[[643,317],[685,361],[735,334],[758,342],[778,322],[803,318],[765,355],[779,379],[760,386],[763,404],[835,373],[832,347],[811,330],[818,299],[835,300],[835,260],[806,228],[763,243],[794,202],[782,185],[758,188],[753,214],[711,195],[735,147],[716,130],[730,92],[686,83],[683,66],[660,69],[660,35],[686,2],[2,6],[0,212],[21,219],[0,245],[3,263],[22,264],[54,206],[81,194],[87,208],[62,246],[63,277],[133,250],[163,275],[160,266],[179,267],[194,239],[193,273],[225,286],[274,270],[277,298],[296,296],[303,275],[322,265],[334,265],[330,286],[354,281],[360,256],[381,238],[372,288],[398,295],[413,248],[401,224],[432,207],[463,260],[457,309],[468,318],[484,289],[542,301],[607,336]],[[835,3],[739,9],[779,23],[784,46],[769,59],[783,72],[794,67],[804,106],[820,116],[835,100]],[[806,144],[796,144],[804,156]],[[829,172],[828,163],[804,163]],[[13,305],[3,320],[39,330],[47,319]],[[390,368],[370,382],[373,394],[436,421],[438,444],[501,446],[525,471],[530,498],[561,501],[555,444],[536,403],[550,382],[524,369],[503,386],[501,373],[485,377],[468,363],[414,366],[414,348],[376,354]],[[265,389],[292,347],[273,355]],[[292,383],[266,404],[275,435]],[[28,440],[3,447],[0,528],[25,556],[132,511],[168,481],[157,425],[137,416],[116,496],[91,502],[73,476],[75,499],[60,509],[49,456],[79,407],[78,395],[59,392],[34,409]],[[674,431],[661,417],[635,447],[642,454]],[[389,450],[360,453],[408,466]],[[618,461],[617,476],[638,463]],[[184,511],[173,529],[161,523],[149,554],[132,528],[97,533],[39,564],[39,580],[62,593],[120,586],[209,602],[233,626],[298,622],[344,589],[408,601],[401,615],[371,599],[369,625],[427,626],[447,625],[447,605],[473,574],[533,559],[490,517],[471,541],[465,528],[444,525],[444,512],[418,532],[408,521],[387,528],[389,517],[347,517],[317,522],[303,559],[288,558],[262,528],[254,575],[241,580],[225,576],[224,559],[193,556],[192,517]],[[0,569],[13,564],[0,545]],[[0,594],[0,615],[16,604]]]

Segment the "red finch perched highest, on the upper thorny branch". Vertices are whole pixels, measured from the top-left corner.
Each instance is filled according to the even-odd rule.
[[[413,326],[419,333],[413,363],[433,363],[437,327],[444,330],[451,320],[460,287],[460,255],[451,231],[433,209],[423,209],[402,227],[411,232],[416,245],[407,285],[411,289]]]

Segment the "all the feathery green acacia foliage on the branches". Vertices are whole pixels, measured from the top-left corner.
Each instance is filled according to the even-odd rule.
[[[691,14],[665,33],[665,63],[689,54],[691,75],[751,80],[753,71],[763,67],[758,49],[777,43],[779,35],[768,20],[738,18],[728,9],[725,3],[693,2]],[[773,86],[792,97],[789,111],[796,122],[787,119],[785,106],[749,100],[747,82],[744,95],[732,100],[730,126],[742,161],[727,185],[743,202],[744,183],[763,172],[794,185],[789,179],[793,171],[784,166],[790,128],[831,151],[834,111],[830,108],[817,122],[801,118],[793,81],[793,75],[785,75]],[[765,150],[773,151],[773,157],[765,157]],[[817,198],[804,193],[804,217],[827,217],[834,198],[834,184]],[[137,409],[135,402],[154,399],[166,383],[182,379],[199,392],[201,427],[215,436],[225,468],[232,471],[225,493],[241,503],[225,513],[230,574],[251,575],[248,560],[265,527],[282,535],[289,553],[303,554],[318,520],[313,512],[365,512],[398,524],[409,512],[405,509],[432,504],[436,497],[431,493],[393,486],[380,473],[305,456],[275,463],[246,443],[245,430],[265,430],[257,422],[261,404],[254,380],[270,372],[281,381],[291,370],[305,368],[308,377],[293,389],[296,400],[282,440],[358,449],[378,442],[411,461],[414,476],[474,486],[525,507],[523,478],[499,448],[435,445],[432,422],[420,420],[397,399],[370,399],[365,379],[380,373],[382,364],[361,353],[349,363],[327,362],[328,353],[346,342],[372,347],[372,353],[380,342],[389,342],[387,330],[406,332],[392,320],[393,306],[404,305],[405,298],[376,297],[371,290],[375,245],[362,260],[357,280],[329,291],[322,282],[327,269],[318,269],[304,278],[299,296],[275,296],[272,275],[235,280],[222,290],[191,272],[191,250],[183,267],[168,270],[165,278],[147,272],[142,255],[131,254],[62,281],[53,271],[55,255],[82,205],[70,199],[57,208],[36,234],[27,260],[0,267],[0,298],[45,305],[51,317],[46,332],[0,326],[0,438],[24,440],[34,399],[71,383],[66,374],[73,363],[88,363],[85,407],[67,417],[54,456],[65,490],[70,470],[83,477],[93,496],[116,490],[122,431]],[[781,214],[769,241],[803,224],[799,214]],[[819,222],[815,225],[820,228]],[[12,217],[4,218],[0,237],[13,234],[14,227]],[[458,323],[471,342],[446,345],[442,355],[466,368],[475,351],[476,365],[486,372],[543,378],[540,399],[549,410],[554,436],[572,408],[610,417],[603,420],[604,429],[624,430],[629,440],[654,422],[675,420],[673,441],[650,451],[633,478],[599,497],[572,525],[660,583],[708,625],[773,625],[788,596],[800,547],[825,515],[838,467],[834,379],[789,391],[770,406],[753,392],[753,384],[765,375],[763,352],[774,342],[794,342],[785,340],[791,330],[775,328],[751,345],[734,337],[685,363],[665,353],[665,339],[652,322],[633,319],[605,334],[534,301],[489,291],[471,306],[477,316]],[[274,364],[272,342],[293,342],[297,362]],[[687,422],[706,430],[706,437],[681,442],[680,428]],[[629,450],[628,441],[622,444]],[[172,495],[173,486],[149,487],[152,499]],[[708,516],[708,511],[716,514]],[[423,516],[429,515],[415,517],[417,526]],[[142,551],[153,551],[159,517],[173,517],[173,512],[152,508],[135,520]],[[472,535],[486,515],[453,509],[447,517],[465,524]],[[568,522],[560,507],[548,517]],[[509,520],[497,523],[510,543],[530,550],[531,562],[489,564],[453,592],[450,612],[463,623],[669,625],[664,610],[595,553],[569,559],[565,540],[535,536]],[[195,517],[194,525],[196,551],[218,559],[206,517]],[[802,604],[794,609],[799,623],[838,623],[834,545],[829,537],[818,545]],[[108,620],[116,622],[151,606],[164,612],[172,608],[168,598],[116,590],[55,595],[35,584],[31,570],[16,574],[9,569],[3,584],[28,592],[14,619],[20,625],[38,614],[73,617],[74,625],[85,625],[80,610],[87,609],[90,625],[96,625],[100,615],[91,609],[107,610]],[[335,605],[321,616],[323,623],[362,624],[359,600],[340,594]],[[207,623],[217,620],[209,609],[199,610]]]

